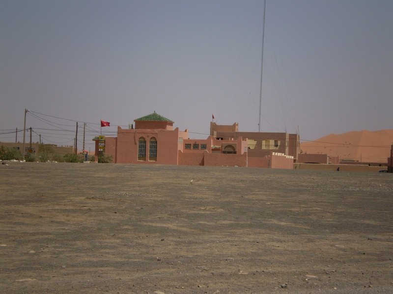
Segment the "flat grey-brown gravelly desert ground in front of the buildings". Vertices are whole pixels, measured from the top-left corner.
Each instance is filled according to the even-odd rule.
[[[393,293],[393,174],[0,164],[0,293]]]

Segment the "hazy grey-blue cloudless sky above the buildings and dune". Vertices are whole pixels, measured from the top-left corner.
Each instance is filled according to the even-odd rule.
[[[154,111],[190,138],[209,135],[212,115],[256,132],[261,88],[263,132],[393,128],[393,1],[266,0],[264,30],[263,11],[262,0],[0,0],[0,141],[22,142],[25,109],[33,142],[72,146],[78,122],[81,146],[86,123],[86,149]]]

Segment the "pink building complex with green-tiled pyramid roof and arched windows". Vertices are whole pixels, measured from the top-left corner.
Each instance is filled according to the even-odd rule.
[[[173,129],[154,112],[135,120],[135,128],[119,126],[117,137],[96,137],[95,159],[105,153],[113,163],[293,168],[289,134],[238,132],[237,123],[210,126],[207,139],[190,139],[187,129]]]

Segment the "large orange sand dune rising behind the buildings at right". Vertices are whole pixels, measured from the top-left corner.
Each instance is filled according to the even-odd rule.
[[[393,130],[352,131],[302,142],[304,153],[323,153],[340,159],[386,163],[393,144]]]

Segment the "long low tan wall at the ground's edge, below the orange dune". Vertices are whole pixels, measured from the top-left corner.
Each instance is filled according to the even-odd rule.
[[[310,170],[310,171],[332,171],[336,172],[340,168],[340,172],[379,172],[387,171],[387,167],[370,167],[368,165],[349,165],[349,164],[310,164],[295,163],[294,170]]]

